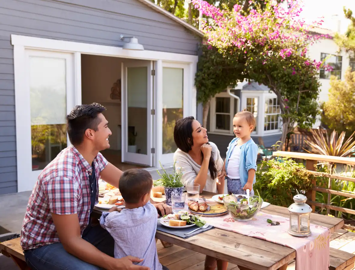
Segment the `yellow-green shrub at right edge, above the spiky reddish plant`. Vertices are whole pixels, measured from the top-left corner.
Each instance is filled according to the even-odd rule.
[[[348,67],[345,80],[331,76],[329,99],[323,104],[322,122],[332,130],[350,136],[355,130],[355,71]]]

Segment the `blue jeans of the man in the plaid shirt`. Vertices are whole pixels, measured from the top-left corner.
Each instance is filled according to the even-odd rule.
[[[114,257],[114,240],[99,224],[92,226],[83,239],[99,251]],[[32,270],[99,270],[65,251],[61,243],[54,243],[25,251],[24,257]]]

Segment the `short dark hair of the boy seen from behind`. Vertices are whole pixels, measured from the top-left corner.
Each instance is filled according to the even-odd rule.
[[[125,171],[118,184],[123,199],[128,203],[137,203],[144,194],[151,191],[153,178],[143,169]]]

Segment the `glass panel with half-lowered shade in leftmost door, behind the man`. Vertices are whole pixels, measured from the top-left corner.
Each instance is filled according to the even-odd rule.
[[[66,135],[66,59],[29,56],[32,170],[43,170]]]

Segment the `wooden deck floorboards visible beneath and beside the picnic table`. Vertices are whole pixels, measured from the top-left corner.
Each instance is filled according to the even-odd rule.
[[[331,236],[330,246],[342,251],[355,254],[355,233],[338,230]],[[205,255],[179,246],[164,248],[160,240],[157,242],[160,263],[169,270],[203,270]],[[239,270],[235,264],[229,264],[228,269]],[[294,270],[295,263],[291,263],[287,270]],[[353,268],[355,270],[355,268]]]

